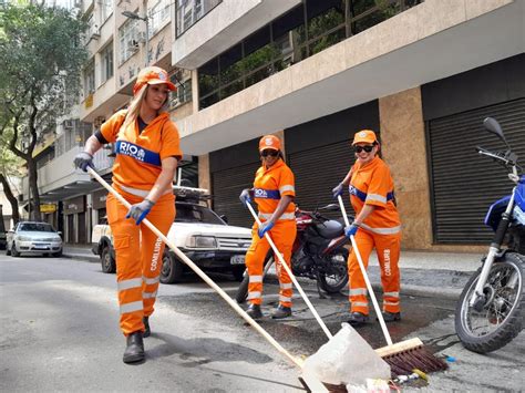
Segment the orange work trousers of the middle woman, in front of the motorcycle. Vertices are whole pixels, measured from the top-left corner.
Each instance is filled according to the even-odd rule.
[[[286,263],[290,267],[291,248],[297,234],[296,220],[278,220],[268,234],[277,249],[282,254]],[[262,266],[270,245],[266,238],[261,239],[259,235],[257,235],[257,224],[251,228],[251,246],[248,252],[246,252],[246,268],[248,269],[249,276],[248,301],[253,304],[260,304],[262,302]],[[284,307],[291,307],[291,279],[286,272],[286,269],[280,266],[277,256],[274,256],[274,258],[280,287],[279,303]]]

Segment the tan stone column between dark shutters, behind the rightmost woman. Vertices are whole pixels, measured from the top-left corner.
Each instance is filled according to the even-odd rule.
[[[402,246],[432,248],[429,168],[421,90],[379,100],[382,155],[392,170],[403,226]]]

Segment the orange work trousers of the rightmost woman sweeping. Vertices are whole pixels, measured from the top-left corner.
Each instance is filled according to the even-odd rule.
[[[400,312],[400,273],[399,256],[401,248],[401,232],[395,235],[377,235],[360,228],[356,234],[356,244],[364,265],[368,261],[372,249],[375,247],[379,265],[381,268],[381,283],[383,286],[383,311]],[[369,314],[368,291],[363,275],[359,268],[358,258],[354,251],[348,257],[348,277],[351,303],[350,312],[361,312]]]

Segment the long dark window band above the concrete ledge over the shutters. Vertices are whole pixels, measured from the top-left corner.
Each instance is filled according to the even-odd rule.
[[[420,2],[302,0],[198,69],[199,107],[213,105]]]

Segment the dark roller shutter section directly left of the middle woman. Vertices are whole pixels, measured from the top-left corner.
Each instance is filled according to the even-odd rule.
[[[254,186],[255,173],[260,162],[212,173],[214,210],[226,215],[229,225],[251,227],[254,218],[239,200],[244,188]]]

